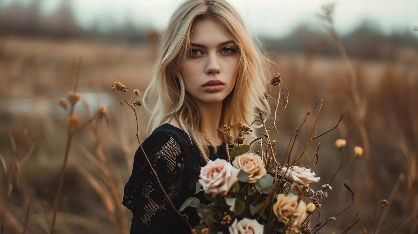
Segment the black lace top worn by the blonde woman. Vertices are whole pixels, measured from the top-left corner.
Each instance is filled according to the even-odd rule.
[[[206,162],[186,132],[163,124],[145,139],[142,146],[177,210],[192,196],[199,198],[201,203],[209,203],[202,193],[194,194],[200,168]],[[218,147],[217,155],[214,155],[213,148],[209,147],[209,150],[212,152],[209,159],[227,159],[224,145]],[[131,234],[190,233],[189,226],[168,203],[140,148],[135,153],[122,204],[133,213]],[[199,224],[196,209],[189,207],[184,213],[192,227]]]

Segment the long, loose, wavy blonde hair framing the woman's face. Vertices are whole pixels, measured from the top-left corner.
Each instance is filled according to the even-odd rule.
[[[240,121],[248,123],[249,115],[256,108],[265,114],[270,112],[270,108],[263,98],[268,84],[265,52],[258,39],[250,36],[234,8],[225,0],[186,0],[182,3],[174,11],[161,36],[155,74],[144,94],[145,107],[153,109],[148,130],[155,129],[172,117],[176,118],[207,162],[207,145],[214,145],[205,139],[201,131],[199,112],[186,92],[180,74],[180,68],[191,50],[193,25],[197,18],[202,17],[216,20],[238,47],[237,81],[223,101],[219,127],[235,125]],[[151,108],[148,99],[155,103]],[[216,147],[214,149],[216,152]]]

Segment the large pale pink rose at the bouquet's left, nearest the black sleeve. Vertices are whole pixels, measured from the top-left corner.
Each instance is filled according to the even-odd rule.
[[[240,169],[234,168],[226,160],[217,158],[200,168],[199,183],[203,186],[205,193],[212,193],[212,197],[217,194],[226,196],[229,188],[238,181]]]

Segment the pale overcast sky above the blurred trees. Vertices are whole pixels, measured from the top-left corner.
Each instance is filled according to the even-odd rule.
[[[13,0],[3,0],[7,4]],[[20,0],[30,2],[30,0]],[[379,25],[385,33],[411,30],[418,25],[418,0],[227,0],[260,36],[284,37],[301,23],[321,29],[317,14],[321,6],[336,3],[334,22],[341,34],[349,33],[364,20]],[[46,14],[62,0],[42,0]],[[121,25],[128,19],[140,27],[163,30],[182,0],[71,0],[76,20],[85,28],[95,22]],[[415,32],[415,31],[414,31]],[[418,32],[417,32],[418,34]]]

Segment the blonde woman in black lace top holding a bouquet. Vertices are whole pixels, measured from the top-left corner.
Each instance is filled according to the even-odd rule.
[[[153,100],[152,134],[143,142],[161,184],[179,209],[194,194],[200,168],[227,159],[219,129],[252,122],[264,99],[266,59],[237,12],[224,0],[187,0],[173,13],[159,47],[155,76],[145,92]],[[258,112],[257,112],[258,115]],[[142,150],[135,154],[123,204],[133,212],[131,233],[190,233],[171,208]],[[195,209],[186,209],[191,226]]]

